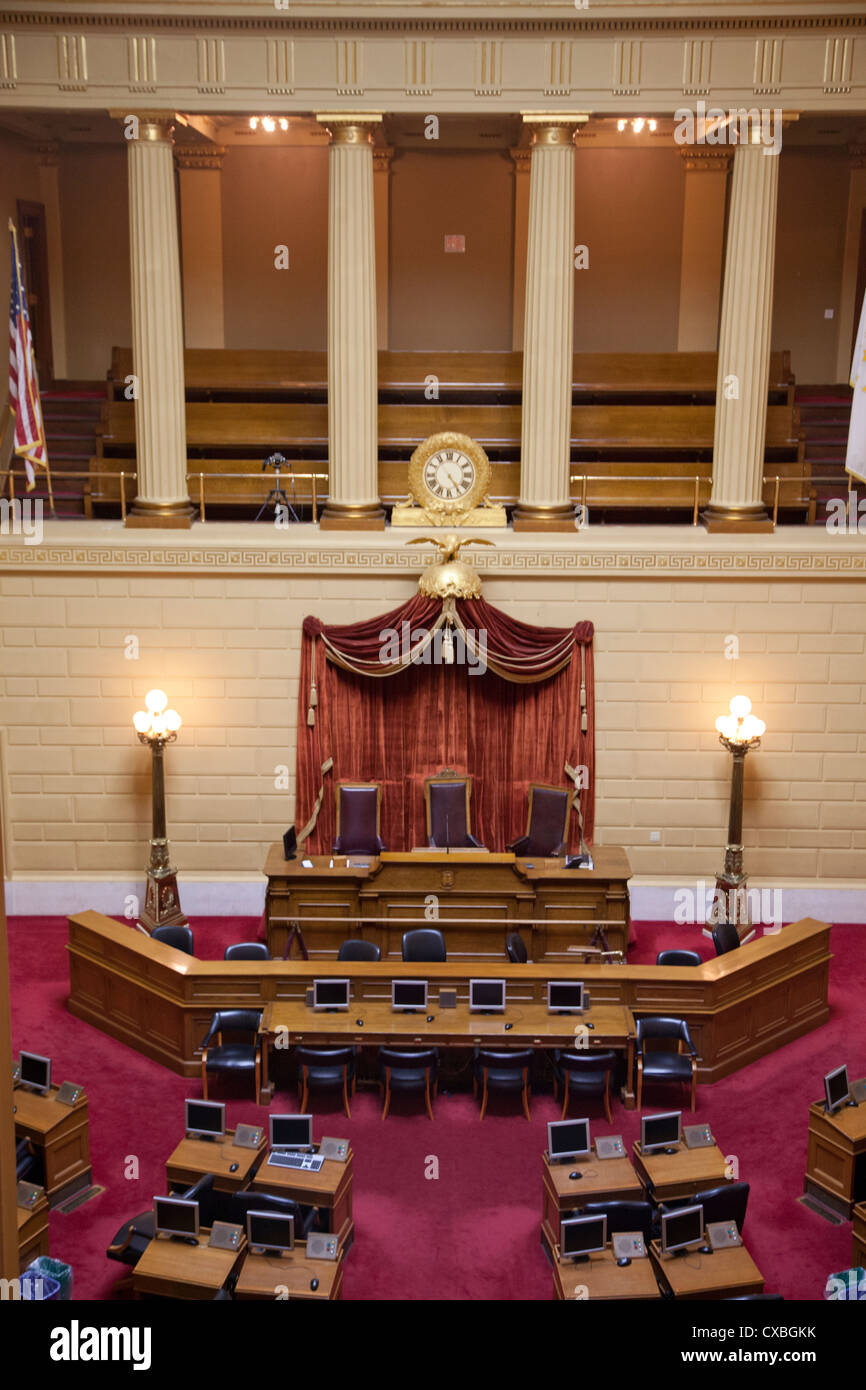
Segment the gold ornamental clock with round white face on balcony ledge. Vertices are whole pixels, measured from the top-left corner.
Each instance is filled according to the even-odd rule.
[[[507,525],[489,498],[491,461],[468,435],[445,431],[420,443],[409,461],[409,499],[393,507],[392,525]]]

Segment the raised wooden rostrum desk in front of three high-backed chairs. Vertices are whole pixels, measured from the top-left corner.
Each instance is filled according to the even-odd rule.
[[[311,959],[336,959],[346,937],[373,941],[384,960],[402,958],[403,933],[417,922],[432,894],[439,902],[439,927],[449,959],[505,959],[505,940],[514,919],[531,919],[517,930],[531,960],[573,960],[575,948],[589,945],[594,920],[606,926],[607,945],[628,945],[628,878],[624,849],[596,845],[594,869],[566,869],[564,859],[517,859],[510,853],[478,851],[382,855],[317,855],[313,869],[303,858],[285,860],[282,845],[271,845],[264,873],[267,942],[272,956],[282,956],[297,917],[334,917],[321,926],[304,922],[302,933]],[[334,867],[331,867],[331,862]],[[449,926],[449,919],[477,917],[471,924]],[[566,927],[563,919],[589,924]],[[409,919],[409,920],[406,920]]]

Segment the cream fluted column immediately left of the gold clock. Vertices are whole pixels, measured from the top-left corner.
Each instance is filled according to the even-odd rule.
[[[381,114],[318,115],[328,178],[328,502],[322,530],[381,531],[375,204],[371,131]]]

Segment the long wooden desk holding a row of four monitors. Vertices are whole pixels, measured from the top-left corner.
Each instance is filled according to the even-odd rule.
[[[375,969],[373,966],[371,969]],[[379,967],[382,969],[382,967]],[[386,966],[384,969],[388,969]],[[409,966],[403,966],[409,972]],[[413,966],[418,974],[418,966]],[[518,967],[520,969],[520,967]],[[525,969],[525,967],[523,967]],[[445,972],[448,963],[439,966],[423,966],[421,973],[430,979],[431,972],[439,977],[439,984],[448,979]],[[455,972],[455,983],[464,974],[466,966],[450,966]],[[400,1042],[406,1045],[420,1044],[424,1047],[573,1047],[577,1030],[584,1026],[588,1031],[589,1048],[621,1048],[626,1052],[626,1087],[623,1098],[627,1105],[634,1105],[631,1090],[632,1062],[634,1062],[634,1017],[631,1011],[621,1004],[592,1005],[581,1015],[549,1013],[546,1004],[524,1002],[518,995],[513,999],[506,988],[505,1013],[471,1013],[468,1008],[468,983],[466,986],[466,1001],[460,999],[464,987],[460,986],[456,1009],[442,1009],[438,1001],[438,990],[430,991],[430,1012],[434,1015],[432,1023],[427,1022],[425,1013],[396,1013],[391,1002],[361,999],[349,1005],[348,1013],[314,1013],[306,1004],[268,1004],[261,1017],[261,1094],[271,1095],[268,1052],[271,1040],[278,1030],[285,1030],[285,1045],[295,1047],[297,1042],[322,1044],[327,1041],[352,1042],[359,1047],[375,1047],[378,1044]],[[363,1019],[363,1027],[357,1019]],[[506,1031],[506,1023],[512,1027]]]

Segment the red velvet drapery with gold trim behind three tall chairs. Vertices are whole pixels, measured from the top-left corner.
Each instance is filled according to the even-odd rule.
[[[427,844],[424,778],[442,767],[473,777],[473,834],[505,849],[525,831],[530,783],[569,787],[571,769],[587,769],[581,790],[584,835],[592,840],[595,809],[595,692],[592,624],[532,627],[484,599],[457,599],[455,614],[484,634],[487,670],[473,663],[382,662],[389,630],[431,631],[439,599],[416,595],[391,613],[350,626],[303,624],[297,717],[296,824],[324,798],[307,847],[328,853],[336,834],[335,785],[359,778],[382,784],[382,838],[389,849]],[[403,627],[409,624],[409,627]],[[405,644],[406,645],[406,644]],[[581,731],[581,682],[587,730]],[[316,688],[314,723],[309,723]],[[571,815],[570,849],[578,847]]]

